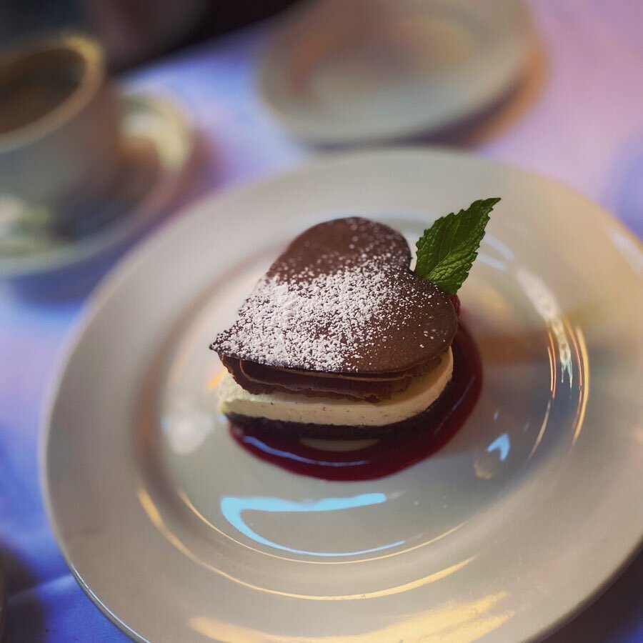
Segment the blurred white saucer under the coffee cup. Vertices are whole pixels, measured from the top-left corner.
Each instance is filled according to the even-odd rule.
[[[189,117],[174,99],[121,96],[124,161],[109,201],[96,205],[86,229],[43,239],[39,246],[0,254],[0,279],[51,279],[118,251],[164,213],[194,149]]]

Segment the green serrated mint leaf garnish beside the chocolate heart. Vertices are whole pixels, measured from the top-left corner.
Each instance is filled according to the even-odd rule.
[[[489,212],[500,199],[480,199],[437,219],[417,242],[416,274],[456,294],[478,256]]]

